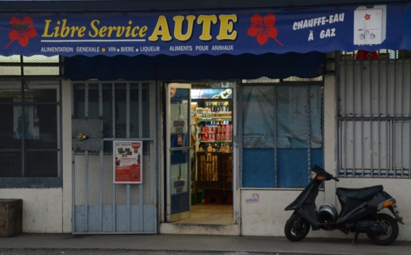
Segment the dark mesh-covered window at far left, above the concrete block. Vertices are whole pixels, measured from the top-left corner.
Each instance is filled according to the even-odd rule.
[[[58,56],[0,57],[1,189],[62,187],[61,65]]]

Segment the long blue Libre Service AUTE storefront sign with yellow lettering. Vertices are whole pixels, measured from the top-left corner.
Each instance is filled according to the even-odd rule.
[[[155,56],[411,49],[411,3],[186,12],[2,13],[0,55]]]

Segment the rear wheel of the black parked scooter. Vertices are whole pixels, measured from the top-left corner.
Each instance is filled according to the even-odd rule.
[[[376,221],[377,223],[384,225],[387,228],[387,232],[385,234],[367,233],[369,239],[377,245],[389,245],[390,243],[393,243],[393,241],[397,239],[399,232],[397,221],[385,213],[377,214]]]

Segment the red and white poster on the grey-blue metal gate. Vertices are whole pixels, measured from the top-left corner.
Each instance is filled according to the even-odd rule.
[[[113,142],[113,178],[118,184],[142,183],[142,142]]]

